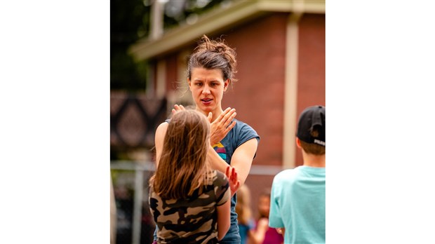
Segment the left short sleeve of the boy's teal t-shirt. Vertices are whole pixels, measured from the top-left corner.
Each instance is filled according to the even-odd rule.
[[[270,210],[269,210],[269,226],[272,228],[284,227],[283,219],[280,212],[280,189],[279,174],[274,177],[272,182],[272,190],[270,194]]]

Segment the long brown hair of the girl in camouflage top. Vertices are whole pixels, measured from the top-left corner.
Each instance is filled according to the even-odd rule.
[[[195,110],[178,111],[171,118],[163,140],[163,150],[156,173],[150,179],[161,198],[180,199],[192,196],[208,180],[207,152],[210,123]]]

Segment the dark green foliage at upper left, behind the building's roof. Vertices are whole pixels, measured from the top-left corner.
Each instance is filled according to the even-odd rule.
[[[134,62],[128,47],[149,34],[151,5],[156,0],[110,1],[110,89],[146,90],[147,63]],[[168,0],[163,27],[173,28],[189,15],[199,15],[224,0]],[[229,1],[229,0],[226,0]]]

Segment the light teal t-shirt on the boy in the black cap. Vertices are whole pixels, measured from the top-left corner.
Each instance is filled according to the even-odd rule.
[[[286,228],[284,243],[325,243],[325,173],[299,166],[274,177],[269,226]]]

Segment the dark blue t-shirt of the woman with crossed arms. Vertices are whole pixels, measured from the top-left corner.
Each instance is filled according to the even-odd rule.
[[[241,144],[251,140],[253,138],[257,139],[257,142],[260,142],[260,136],[257,132],[248,124],[243,123],[242,121],[236,120],[236,126],[229,130],[228,134],[222,139],[219,143],[213,145],[213,149],[219,154],[219,156],[226,161],[228,164],[231,164],[231,158],[236,151],[237,147]],[[166,120],[166,122],[170,122],[170,120]],[[255,156],[254,156],[255,157]],[[237,214],[236,214],[236,203],[237,203],[237,194],[234,194],[231,198],[231,225],[229,226],[229,230],[227,234],[220,240],[220,244],[239,244],[240,243],[240,235],[239,235],[239,226],[237,224]],[[154,231],[154,240],[156,240],[156,231]]]

